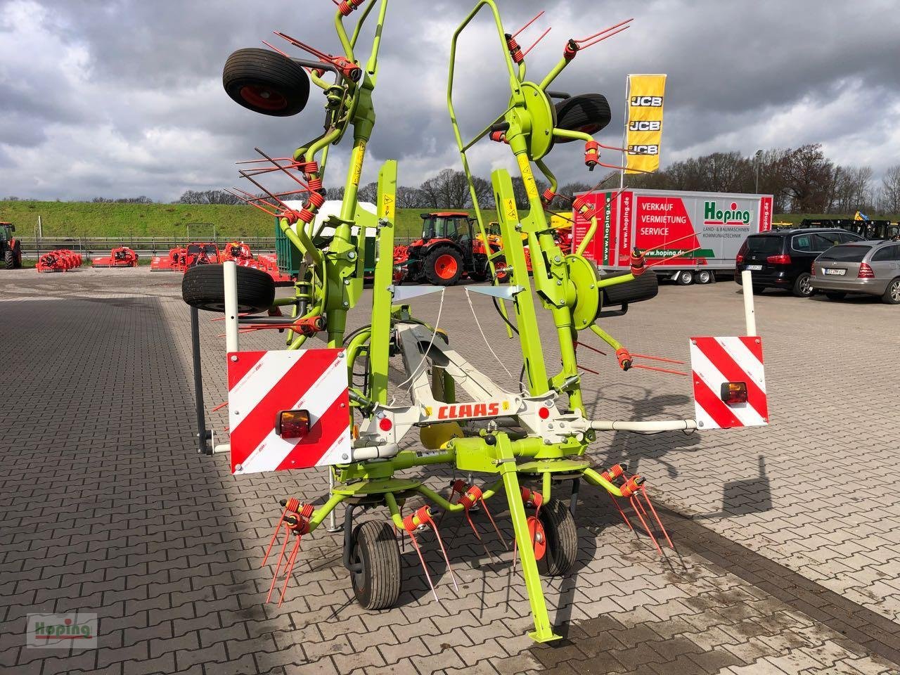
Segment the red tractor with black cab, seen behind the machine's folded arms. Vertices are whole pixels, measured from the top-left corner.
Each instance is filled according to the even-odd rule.
[[[488,252],[496,253],[500,246],[491,241],[485,244],[473,237],[474,219],[465,211],[422,213],[422,238],[408,247],[394,249],[394,265],[401,280],[452,286],[463,275],[473,281],[484,281],[491,275]],[[498,277],[506,275],[506,264],[494,258]]]

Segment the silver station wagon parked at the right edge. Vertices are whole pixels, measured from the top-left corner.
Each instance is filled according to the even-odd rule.
[[[900,304],[900,242],[857,241],[829,248],[813,262],[810,284],[830,300],[847,293],[881,296]]]

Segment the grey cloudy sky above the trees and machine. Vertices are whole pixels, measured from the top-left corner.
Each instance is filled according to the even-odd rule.
[[[606,94],[618,112],[626,73],[667,73],[663,165],[807,142],[877,176],[900,161],[895,0],[499,4],[508,29],[547,11],[521,40],[553,27],[527,59],[536,79],[567,38],[634,16],[629,30],[582,52],[554,88]],[[472,5],[391,0],[364,180],[392,157],[403,184],[458,166],[446,67],[450,33]],[[289,154],[319,133],[322,116],[315,92],[295,117],[239,107],[222,90],[225,59],[272,41],[273,30],[337,53],[333,13],[329,0],[0,0],[0,195],[171,201],[187,189],[235,184],[234,161],[254,146]],[[505,108],[491,31],[476,22],[460,44],[455,100],[470,134]],[[616,114],[598,138],[617,143],[621,130]],[[549,163],[563,179],[588,180],[576,145],[555,148]],[[488,141],[474,148],[475,170],[507,164],[500,150]],[[327,187],[343,184],[346,153],[335,154]]]

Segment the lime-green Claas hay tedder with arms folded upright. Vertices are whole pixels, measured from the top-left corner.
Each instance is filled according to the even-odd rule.
[[[601,275],[581,255],[598,229],[598,214],[584,202],[575,202],[574,208],[590,221],[590,229],[575,251],[566,252],[545,211],[556,188],[554,175],[545,164],[548,153],[556,145],[581,141],[586,165],[602,164],[600,144],[591,134],[609,121],[602,95],[569,96],[548,91],[548,87],[581,49],[625,30],[627,22],[582,40],[568,40],[559,63],[536,82],[526,78],[527,50],[518,46],[518,33],[505,31],[494,0],[481,0],[454,32],[447,88],[478,236],[483,242],[502,242],[502,247],[491,247],[486,254],[490,274],[485,275],[493,283],[468,286],[467,290],[395,284],[396,162],[386,161],[379,172],[375,216],[358,208],[356,198],[375,122],[373,92],[387,6],[388,0],[340,2],[335,15],[341,44],[338,55],[276,32],[314,58],[293,58],[272,47],[240,49],[226,63],[226,91],[254,112],[274,116],[300,112],[308,103],[311,83],[316,85],[324,96],[325,130],[287,157],[258,150],[260,158],[244,163],[239,172],[253,188],[252,192],[237,192],[247,203],[275,217],[280,237],[278,264],[293,274],[293,294],[276,298],[269,275],[233,262],[196,266],[184,275],[184,299],[194,310],[225,314],[230,437],[228,444],[214,450],[230,453],[236,475],[328,467],[331,487],[326,498],[292,495],[280,500],[280,518],[263,561],[275,563],[268,599],[273,598],[277,586],[281,604],[302,538],[311,536],[340,505],[345,507],[343,562],[356,599],[364,608],[389,608],[399,597],[398,538],[410,539],[431,582],[421,550],[425,530],[434,532],[447,574],[455,584],[438,523],[445,516],[463,518],[478,535],[473,510],[482,509],[491,516],[488,503],[501,500],[509,509],[512,548],[531,604],[535,630],[530,635],[538,642],[552,641],[559,635],[547,613],[541,576],[564,576],[572,571],[578,552],[574,515],[581,482],[607,492],[626,523],[643,530],[656,548],[662,551],[663,542],[671,545],[647,496],[644,478],[626,473],[621,465],[593,468],[585,455],[587,448],[599,432],[611,430],[656,432],[764,424],[768,413],[761,340],[752,328],[748,328],[750,337],[692,338],[690,348],[696,358],[691,379],[698,419],[589,419],[576,360],[577,347],[582,344],[580,332],[590,330],[615,350],[623,371],[676,372],[669,364],[680,364],[665,359],[667,367],[639,363],[653,357],[632,354],[598,325],[598,320],[626,311],[629,303],[656,295],[655,275],[645,274],[644,253],[633,252],[627,274]],[[485,7],[492,14],[509,72],[509,107],[475,138],[464,141],[453,106],[456,42]],[[359,21],[348,34],[344,21],[356,11]],[[370,15],[377,17],[377,25],[364,64],[357,58],[357,39]],[[340,212],[314,226],[325,199],[329,148],[351,130],[353,148]],[[492,173],[500,227],[500,238],[491,235],[493,239],[485,230],[466,157],[467,150],[485,137],[509,147],[528,197],[527,214],[520,217],[509,171],[500,168]],[[535,170],[551,185],[543,195],[538,193]],[[264,186],[262,181],[272,177],[289,188]],[[257,196],[260,191],[264,196]],[[297,195],[303,195],[302,208],[292,208],[284,201]],[[362,297],[365,238],[370,229],[378,239],[371,307],[364,310],[368,314],[365,325],[348,332],[347,313]],[[496,269],[500,260],[510,276],[508,284],[500,283],[503,280]],[[509,337],[515,332],[518,338],[523,371],[518,385],[504,388],[480,373],[450,347],[446,333],[413,317],[407,301],[433,292],[442,293],[442,303],[443,293],[481,293],[491,298]],[[751,293],[744,298],[752,303]],[[620,309],[611,311],[610,306]],[[538,311],[552,317],[553,338],[542,336]],[[195,373],[199,359],[196,317],[194,311]],[[748,317],[752,317],[752,304],[748,305]],[[286,348],[240,350],[240,333],[263,329],[284,333]],[[304,348],[317,333],[326,345]],[[549,339],[555,340],[561,356],[558,372],[552,372],[545,360],[543,347]],[[737,356],[729,358],[729,354]],[[396,388],[388,379],[392,356],[399,356],[405,369],[406,381]],[[199,377],[195,383],[200,449],[208,451]],[[413,431],[419,432],[422,447],[404,444]],[[482,476],[483,485],[475,485],[471,478],[455,481],[446,499],[422,479],[402,475],[404,470],[433,464]],[[570,504],[554,495],[561,482],[571,483]],[[426,505],[408,508],[413,498],[424,499]],[[631,520],[617,500],[629,502],[634,512]],[[387,518],[355,523],[360,510],[378,508],[386,510]],[[492,517],[491,523],[505,541]]]

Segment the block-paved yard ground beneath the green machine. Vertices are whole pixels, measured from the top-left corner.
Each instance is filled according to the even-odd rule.
[[[564,639],[537,646],[510,554],[486,536],[491,563],[465,528],[451,547],[458,591],[426,542],[439,602],[407,547],[399,607],[363,611],[341,537],[322,528],[303,541],[284,605],[264,604],[275,500],[321,503],[327,475],[234,478],[224,455],[195,453],[180,277],[23,270],[0,282],[2,673],[900,672],[896,308],[764,294],[769,428],[601,437],[592,459],[648,477],[677,552],[657,554],[582,490],[576,570],[545,583]],[[515,390],[518,343],[472,302],[502,365],[463,288],[446,292],[441,324]],[[438,303],[413,306],[435,320]],[[730,282],[664,286],[605,327],[633,352],[686,360],[692,335],[743,332],[742,296]],[[225,399],[220,332],[202,322],[208,408]],[[687,378],[579,356],[599,372],[584,374],[593,417],[692,415]],[[224,411],[211,420],[223,428]],[[421,474],[435,489],[453,476]],[[27,614],[76,609],[99,615],[98,649],[24,646]]]

